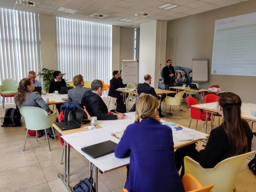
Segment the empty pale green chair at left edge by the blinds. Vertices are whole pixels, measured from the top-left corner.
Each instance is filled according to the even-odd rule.
[[[18,84],[12,78],[6,78],[2,81],[2,85],[0,86],[0,95],[2,98],[2,108],[4,109],[5,97],[14,97],[15,93],[17,93]]]

